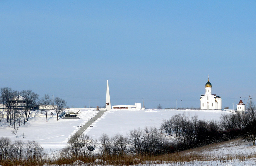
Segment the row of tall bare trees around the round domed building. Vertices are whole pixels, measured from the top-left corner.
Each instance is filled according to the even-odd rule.
[[[32,90],[15,91],[8,87],[1,88],[0,102],[2,103],[0,115],[2,114],[2,118],[4,118],[4,114],[6,114],[8,126],[14,129],[17,124],[19,126],[21,123],[25,124],[29,120],[32,110],[38,105],[42,105],[42,113],[46,115],[46,121],[48,121],[47,109],[49,106],[57,114],[57,120],[59,113],[67,108],[66,101],[60,97],[55,97],[53,103],[49,94],[45,94],[39,99],[39,94]],[[0,121],[2,118],[0,116]]]

